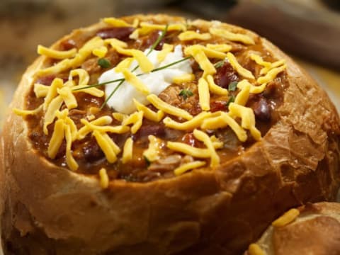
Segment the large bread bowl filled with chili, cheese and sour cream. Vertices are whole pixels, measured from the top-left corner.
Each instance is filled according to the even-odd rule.
[[[334,200],[339,116],[259,35],[138,15],[51,48],[1,136],[5,254],[241,254],[288,208]]]

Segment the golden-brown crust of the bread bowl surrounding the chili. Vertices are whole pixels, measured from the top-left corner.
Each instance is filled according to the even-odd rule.
[[[334,200],[340,176],[339,116],[315,81],[277,47],[260,40],[287,61],[289,86],[278,110],[280,120],[260,142],[215,171],[149,183],[115,180],[103,191],[97,179],[41,157],[30,144],[25,121],[8,115],[0,166],[6,175],[0,186],[8,187],[3,193],[5,246],[11,243],[22,254],[240,254],[288,208]],[[33,73],[43,63],[39,57],[23,74],[10,108],[24,107]]]

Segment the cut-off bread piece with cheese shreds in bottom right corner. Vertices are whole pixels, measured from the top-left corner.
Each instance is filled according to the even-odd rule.
[[[248,255],[339,254],[340,204],[307,203],[274,221]]]

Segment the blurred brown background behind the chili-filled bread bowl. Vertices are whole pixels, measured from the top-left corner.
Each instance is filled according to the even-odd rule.
[[[1,0],[0,125],[38,44],[99,18],[169,13],[234,23],[268,38],[317,79],[340,110],[339,0]]]

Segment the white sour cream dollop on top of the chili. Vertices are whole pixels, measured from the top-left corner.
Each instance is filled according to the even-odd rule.
[[[145,55],[147,55],[149,49],[145,50]],[[163,67],[166,64],[171,64],[173,62],[179,61],[183,59],[183,52],[181,45],[177,45],[174,47],[174,52],[170,52],[166,55],[166,58],[162,62],[158,62],[157,55],[158,50],[152,50],[152,52],[147,56],[147,58],[154,64],[154,68]],[[137,61],[133,61],[130,65],[130,71],[137,66]],[[164,91],[173,81],[174,77],[179,77],[183,74],[192,74],[193,70],[191,69],[190,60],[186,60],[180,62],[179,64],[175,64],[171,67],[167,67],[166,69],[162,69],[157,72],[150,72],[148,74],[144,74],[140,68],[136,69],[133,74],[143,74],[138,78],[142,80],[143,84],[147,86],[150,91],[150,94],[156,94],[157,96]],[[108,70],[101,74],[98,82],[103,83],[107,81],[113,81],[115,79],[124,78],[123,74],[115,72],[115,68]],[[119,82],[106,84],[105,86],[105,96],[111,95],[115,87],[119,84]],[[149,104],[147,101],[147,97],[142,92],[137,91],[132,84],[124,81],[123,84],[120,85],[119,89],[115,91],[115,94],[108,100],[108,106],[113,108],[115,111],[120,113],[130,114],[136,111],[135,104],[132,99],[135,98],[140,103],[145,106]]]

